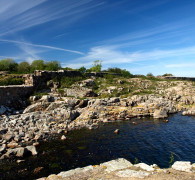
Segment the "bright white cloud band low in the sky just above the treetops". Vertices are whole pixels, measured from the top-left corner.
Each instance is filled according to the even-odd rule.
[[[97,46],[90,49],[90,51],[81,58],[77,58],[71,63],[65,64],[66,66],[70,66],[74,68],[80,67],[80,65],[89,66],[96,59],[99,59],[103,62],[103,65],[107,64],[128,64],[136,63],[136,62],[152,62],[161,60],[163,63],[164,59],[170,58],[178,58],[178,57],[186,57],[186,55],[195,55],[195,46],[186,47],[186,48],[175,48],[175,49],[167,49],[160,50],[154,49],[149,51],[132,51],[132,52],[124,52],[120,50],[116,50],[113,47],[109,46]],[[74,63],[78,62],[78,64]]]

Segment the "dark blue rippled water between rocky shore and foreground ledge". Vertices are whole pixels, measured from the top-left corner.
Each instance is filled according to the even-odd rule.
[[[17,164],[14,160],[0,161],[1,179],[35,179],[60,171],[95,165],[116,158],[137,159],[147,164],[169,166],[174,160],[195,162],[195,117],[171,115],[168,123],[150,118],[120,121],[101,125],[95,130],[76,130],[66,141],[42,142],[38,156]],[[119,135],[113,133],[120,129]],[[35,173],[34,169],[43,167]]]

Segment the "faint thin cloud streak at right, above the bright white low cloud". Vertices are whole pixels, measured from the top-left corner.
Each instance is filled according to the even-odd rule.
[[[125,33],[120,36],[100,41],[100,44],[114,45],[116,47],[128,46],[131,44],[149,43],[154,40],[168,39],[171,37],[181,37],[183,34],[194,30],[195,18],[190,17],[177,22],[170,22],[157,25],[153,28],[147,28],[136,32]]]

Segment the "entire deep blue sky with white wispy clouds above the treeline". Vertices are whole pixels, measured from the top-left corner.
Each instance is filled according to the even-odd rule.
[[[0,59],[195,76],[194,0],[0,0]]]

